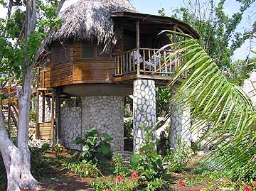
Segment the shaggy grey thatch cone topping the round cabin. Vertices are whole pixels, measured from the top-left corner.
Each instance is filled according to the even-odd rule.
[[[121,32],[112,23],[112,11],[136,12],[136,9],[127,0],[80,0],[60,13],[63,23],[52,40],[97,40],[107,50],[117,42]]]

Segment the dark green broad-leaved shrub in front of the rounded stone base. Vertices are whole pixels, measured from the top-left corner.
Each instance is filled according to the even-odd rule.
[[[97,129],[90,129],[85,133],[84,138],[75,138],[74,143],[82,145],[81,158],[87,162],[104,165],[108,160],[112,159],[112,150],[110,141],[113,138],[107,133],[100,133]]]

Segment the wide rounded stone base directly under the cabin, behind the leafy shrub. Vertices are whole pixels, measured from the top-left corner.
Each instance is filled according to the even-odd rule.
[[[82,97],[82,134],[92,128],[114,138],[113,151],[124,151],[124,97]]]

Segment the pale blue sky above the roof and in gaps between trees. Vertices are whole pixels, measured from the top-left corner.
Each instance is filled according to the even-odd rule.
[[[4,0],[7,1],[7,0]],[[78,0],[66,0],[63,9],[70,6],[70,4],[73,4],[77,2]],[[183,0],[131,0],[132,4],[135,6],[137,11],[141,13],[150,13],[150,14],[156,14],[158,15],[158,10],[163,7],[166,11],[167,15],[171,15],[171,11],[178,8],[179,6],[183,5]],[[215,2],[218,2],[218,0],[215,0]],[[235,0],[227,0],[225,5],[225,13],[228,13],[228,16],[232,16],[233,13],[237,12],[239,10],[239,3]],[[252,14],[256,15],[256,2],[252,4],[250,9],[245,11],[245,15],[242,18],[242,22],[238,26],[238,31],[244,31],[245,29],[249,29],[252,23],[250,23],[250,19],[248,19],[248,16],[251,16]],[[6,16],[6,9],[4,9],[2,6],[0,6],[0,17],[4,18]],[[256,16],[254,16],[254,20],[256,19]],[[255,45],[256,47],[256,40],[252,42],[252,45]],[[245,59],[250,47],[250,40],[246,40],[245,43],[242,45],[241,48],[238,48],[238,50],[235,51],[233,60],[238,59]],[[252,56],[252,54],[251,54]]]

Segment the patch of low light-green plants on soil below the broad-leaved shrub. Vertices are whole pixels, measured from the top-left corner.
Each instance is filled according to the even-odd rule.
[[[63,163],[64,167],[74,170],[80,175],[80,178],[93,177],[97,178],[100,175],[100,170],[96,164],[82,160],[80,163]]]

